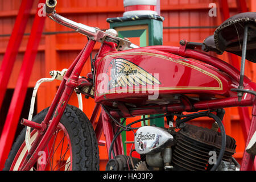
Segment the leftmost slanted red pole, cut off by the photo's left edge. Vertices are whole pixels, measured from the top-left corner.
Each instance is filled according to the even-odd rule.
[[[20,43],[22,42],[23,34],[27,26],[28,18],[30,16],[30,10],[33,5],[33,0],[23,0],[17,18],[15,20],[13,32],[6,48],[5,56],[3,57],[2,65],[0,68],[0,109],[2,106],[3,98],[5,98],[5,92],[11,71],[13,70],[14,61],[18,54]]]

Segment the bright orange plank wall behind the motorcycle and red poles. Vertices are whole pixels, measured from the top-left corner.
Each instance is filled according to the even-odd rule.
[[[19,5],[22,0],[0,0],[0,35],[11,34],[13,30],[16,15],[18,14]],[[218,26],[221,23],[220,13],[218,9],[217,17],[208,16],[209,3],[215,2],[218,6],[218,1],[212,0],[161,0],[161,15],[164,16],[163,27],[191,27],[191,26]],[[237,13],[236,0],[229,0],[230,15]],[[37,1],[34,1],[31,17],[28,21],[26,33],[30,33],[34,14],[36,13]],[[256,11],[256,3],[254,0],[247,1],[251,11]],[[76,22],[88,24],[89,26],[98,27],[101,29],[109,28],[107,18],[122,16],[123,14],[122,0],[65,0],[58,1],[57,11]],[[72,31],[67,27],[61,26],[52,20],[46,20],[44,32],[56,31]],[[181,39],[187,39],[190,42],[203,42],[203,40],[212,35],[214,28],[175,28],[163,30],[164,45],[179,46]],[[22,45],[20,46],[19,55],[16,58],[14,71],[12,73],[8,87],[14,88],[18,77],[20,65],[23,60],[24,51],[29,36],[24,36]],[[9,36],[0,36],[0,64],[5,53],[9,41]],[[136,40],[135,40],[136,41]],[[56,35],[43,35],[40,41],[38,56],[36,56],[34,69],[30,78],[30,87],[34,87],[35,82],[42,77],[49,77],[49,71],[62,70],[68,68],[72,61],[76,58],[81,49],[85,46],[87,38],[83,35],[75,33],[65,33]],[[95,55],[99,44],[93,51]],[[228,56],[218,56],[229,63]],[[246,62],[246,75],[251,80],[256,81],[256,64]],[[90,61],[85,64],[82,76],[90,71]],[[38,111],[43,110],[51,104],[52,98],[55,96],[59,81],[44,83],[38,91]],[[93,111],[94,101],[92,99],[83,98],[84,112],[90,118]],[[26,103],[30,104],[30,103]],[[73,94],[69,104],[78,106],[77,97]],[[251,112],[251,108],[249,109]],[[240,126],[240,118],[238,109],[232,108],[226,110],[226,126],[228,134],[232,135],[237,140],[236,158],[240,159],[245,145],[244,137]],[[227,122],[228,121],[228,122]],[[196,121],[197,125],[202,125],[201,120]],[[204,125],[204,126],[208,126]],[[101,139],[104,139],[102,135]],[[100,146],[101,169],[105,169],[108,156],[106,155],[106,146]]]

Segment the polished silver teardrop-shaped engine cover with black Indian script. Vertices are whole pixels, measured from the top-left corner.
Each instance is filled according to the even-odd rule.
[[[135,150],[139,154],[152,154],[161,150],[163,146],[172,144],[174,137],[166,130],[155,126],[140,127],[135,135]]]

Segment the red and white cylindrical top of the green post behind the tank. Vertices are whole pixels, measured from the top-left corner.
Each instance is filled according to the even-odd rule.
[[[123,16],[158,15],[156,5],[158,0],[123,0],[125,13]]]

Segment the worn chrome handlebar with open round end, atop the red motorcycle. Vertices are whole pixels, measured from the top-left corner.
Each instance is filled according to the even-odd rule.
[[[99,30],[98,28],[89,27],[82,23],[73,22],[70,19],[67,19],[56,13],[55,7],[57,5],[56,0],[47,0],[45,10],[50,19],[53,21],[62,24],[63,26],[72,28],[73,30],[79,32],[82,35],[87,36],[89,39],[92,39],[97,42],[104,42],[104,40],[108,37],[110,39],[114,39],[118,46],[117,48],[121,51],[126,49],[138,48],[135,44],[132,44],[129,40],[119,38],[114,34],[109,34],[108,32],[104,32]]]

